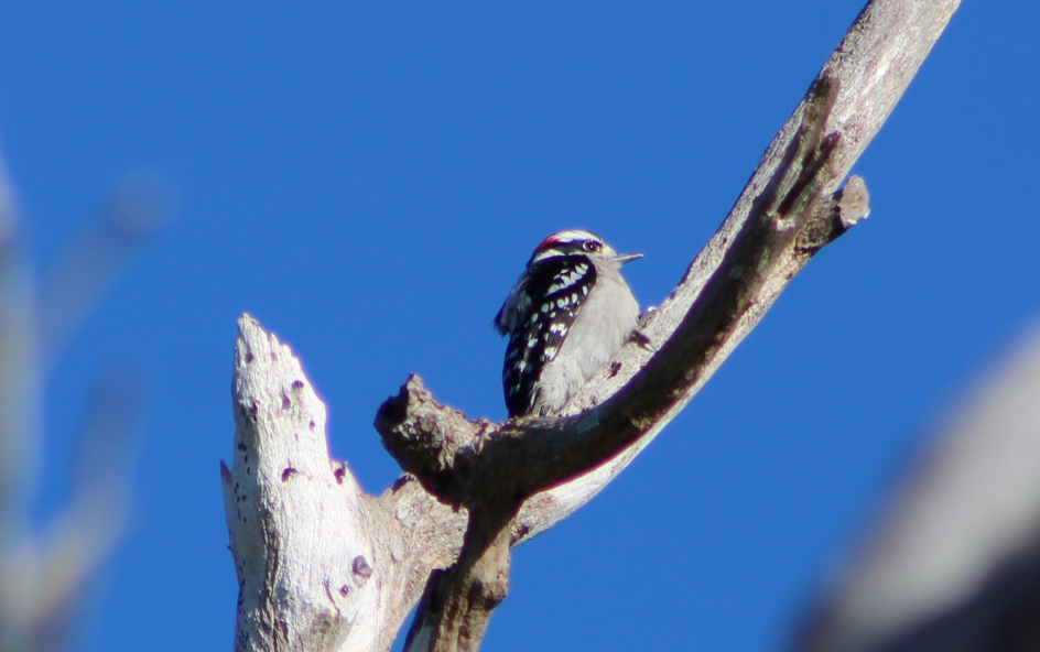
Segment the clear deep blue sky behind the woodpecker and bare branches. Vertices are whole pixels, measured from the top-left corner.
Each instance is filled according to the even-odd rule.
[[[379,4],[379,7],[376,7]],[[0,135],[42,269],[124,173],[176,221],[47,390],[65,488],[101,362],[152,370],[132,530],[83,650],[226,651],[235,319],[290,343],[335,455],[410,371],[501,419],[491,317],[586,227],[659,302],[862,0],[0,4]],[[777,649],[921,434],[1040,307],[1040,9],[966,0],[855,169],[873,215],[599,498],[516,552],[486,649]]]

